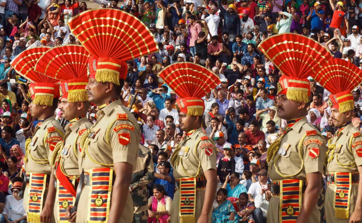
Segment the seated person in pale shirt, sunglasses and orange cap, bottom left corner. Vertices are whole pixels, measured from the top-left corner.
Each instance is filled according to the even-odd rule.
[[[6,196],[3,202],[5,203],[2,212],[2,215],[5,218],[4,222],[26,222],[25,208],[22,205],[19,205],[19,203],[23,202],[23,198],[19,197],[22,186],[22,179],[20,177],[14,177],[12,180],[12,187],[10,189],[12,195]]]

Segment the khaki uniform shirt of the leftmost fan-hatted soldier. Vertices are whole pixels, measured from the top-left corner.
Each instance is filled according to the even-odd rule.
[[[29,145],[25,171],[50,174],[50,159],[55,145],[63,139],[63,136],[64,130],[54,116],[47,118],[40,126],[37,126]]]

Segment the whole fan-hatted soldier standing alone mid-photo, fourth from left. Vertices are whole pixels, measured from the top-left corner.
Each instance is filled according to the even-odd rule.
[[[201,97],[220,81],[204,67],[187,62],[168,66],[160,77],[180,97],[176,107],[186,135],[171,156],[177,188],[171,222],[209,223],[217,184],[216,147],[201,128],[205,110]]]

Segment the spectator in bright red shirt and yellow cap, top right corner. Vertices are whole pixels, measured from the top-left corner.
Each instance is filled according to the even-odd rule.
[[[349,33],[348,27],[350,27],[350,25],[347,19],[347,13],[344,11],[344,3],[338,1],[335,4],[333,0],[329,0],[329,4],[331,8],[333,8],[333,17],[328,28],[328,34],[332,36],[335,29],[341,29],[342,23],[344,23],[344,27],[347,28],[341,29],[341,34],[345,35],[346,33]]]

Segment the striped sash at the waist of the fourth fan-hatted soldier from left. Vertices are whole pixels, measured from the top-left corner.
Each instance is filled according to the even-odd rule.
[[[195,222],[196,178],[180,178],[181,223]]]

